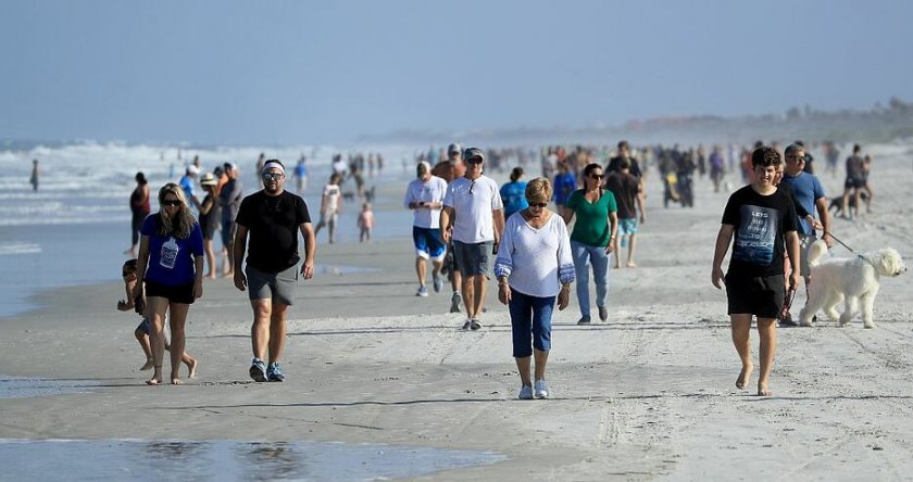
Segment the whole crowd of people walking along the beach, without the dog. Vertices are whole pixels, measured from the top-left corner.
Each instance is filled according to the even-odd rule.
[[[599,320],[608,321],[611,267],[637,268],[637,233],[647,218],[648,172],[659,173],[664,195],[688,206],[693,205],[693,195],[688,193],[693,175],[706,176],[714,192],[729,192],[726,175],[740,169],[746,186],[731,192],[724,210],[712,283],[727,292],[733,341],[742,363],[736,385],[745,389],[753,369],[749,331],[756,318],[761,340],[758,393],[770,395],[775,329],[778,324],[793,324],[789,303],[800,278],[808,290],[808,248],[816,232],[822,231],[828,246],[833,244],[829,206],[801,141],[784,151],[760,141],[753,149],[735,144],[725,149],[728,160],[722,145],[713,145],[709,154],[702,145],[633,149],[627,141],[611,151],[545,147],[538,151],[542,175],[528,181],[525,173],[535,168],[530,164],[536,152],[531,150],[486,151],[452,143],[439,152],[421,153],[403,200],[413,214],[415,294],[429,296],[429,270],[435,292],[442,291],[445,279],[449,280],[450,313],[465,314],[463,330],[480,330],[493,274],[498,300],[510,312],[513,355],[521,376],[518,397],[547,398],[545,367],[553,308],[568,306],[570,289],[576,282],[577,325],[592,322],[593,304]],[[835,148],[825,144],[824,149],[829,153]],[[510,169],[510,181],[503,186],[486,175],[505,169],[511,161],[518,165]],[[354,180],[355,195],[364,200],[358,216],[360,240],[371,239],[373,192],[368,194],[363,181],[359,182],[365,162],[370,176],[383,168],[379,155],[350,156],[348,164],[341,154],[333,157],[316,225],[304,200],[286,190],[286,169],[278,160],[258,160],[258,182],[263,189],[245,196],[235,164],[224,163],[200,175],[199,158],[195,158],[177,182],[158,191],[157,213],[151,213],[148,181],[137,173],[130,195],[132,246],[126,252],[137,259],[124,266],[128,296],[118,303],[118,309],[135,309],[145,317],[135,334],[147,355],[142,368],[154,369],[147,383],[162,383],[165,350],[171,352],[172,383],[182,383],[182,364],[191,377],[196,372],[197,360],[185,352],[184,325],[190,304],[202,295],[204,265],[209,267],[205,277],[216,276],[216,231],[221,231],[223,245],[222,275],[233,278],[238,290],[247,291],[251,302],[250,377],[258,382],[284,380],[279,359],[296,281],[299,276],[313,276],[317,233],[323,228],[328,241],[335,242],[345,179]],[[304,164],[302,156],[292,170],[299,190],[307,186]],[[845,215],[858,215],[866,192],[871,203],[871,157],[863,157],[861,147],[855,145],[847,160],[840,206]],[[197,195],[198,185],[202,199]],[[729,266],[724,270],[722,264],[730,246]],[[622,264],[624,248],[627,253]],[[596,291],[592,301],[590,278]],[[170,344],[164,338],[165,320],[172,333]]]

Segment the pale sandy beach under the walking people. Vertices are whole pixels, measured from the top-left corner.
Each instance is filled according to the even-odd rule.
[[[835,219],[834,232],[859,252],[892,246],[909,266],[913,151],[866,151],[874,213]],[[829,196],[841,192],[842,174],[820,177]],[[378,187],[388,201],[375,208],[401,210],[404,186]],[[711,284],[728,193],[698,179],[695,208],[663,208],[655,170],[648,186],[638,268],[610,274],[609,321],[576,326],[573,296],[554,319],[550,399],[515,399],[497,293],[484,328],[464,332],[447,313],[449,290],[414,295],[409,232],[368,244],[321,236],[323,269],[301,282],[290,312],[285,383],[249,379],[251,310],[228,280],[208,281],[190,309],[187,350],[200,367],[183,386],[142,383],[138,318],[114,308],[121,283],[65,288],[39,295],[46,308],[0,320],[0,373],[98,386],[0,401],[0,440],[342,442],[498,456],[409,475],[423,480],[911,480],[913,274],[883,279],[876,329],[821,316],[814,328],[779,329],[774,396],[759,397],[734,385],[726,297]],[[803,303],[800,293],[795,316]],[[0,479],[28,479],[17,467],[0,464]]]

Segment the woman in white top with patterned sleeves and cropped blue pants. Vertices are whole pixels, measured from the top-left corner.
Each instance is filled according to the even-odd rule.
[[[574,282],[571,239],[561,216],[546,208],[552,195],[549,180],[537,177],[526,185],[529,207],[512,215],[495,261],[498,300],[509,306],[513,355],[520,370],[521,399],[548,398],[546,363],[551,348],[551,317],[567,307]],[[529,376],[536,358],[535,384]]]

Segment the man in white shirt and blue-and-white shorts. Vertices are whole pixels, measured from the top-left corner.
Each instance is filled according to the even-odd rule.
[[[418,291],[416,296],[427,296],[425,275],[428,270],[428,259],[432,259],[432,280],[435,292],[440,292],[442,281],[440,268],[447,248],[440,237],[440,210],[443,206],[443,195],[447,181],[432,175],[430,164],[422,161],[415,167],[416,179],[405,189],[403,204],[412,210],[412,240],[415,243],[415,274],[418,275]]]

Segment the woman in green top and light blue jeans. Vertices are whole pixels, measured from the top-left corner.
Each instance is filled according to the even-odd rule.
[[[618,229],[617,206],[611,191],[602,189],[604,178],[602,166],[589,164],[584,168],[584,189],[578,189],[567,200],[567,210],[562,217],[571,224],[577,223],[571,232],[571,253],[577,271],[577,304],[580,319],[577,325],[590,324],[589,266],[596,282],[596,306],[599,319],[605,321],[605,297],[609,292],[609,256],[612,253],[612,238]]]

